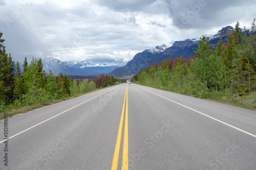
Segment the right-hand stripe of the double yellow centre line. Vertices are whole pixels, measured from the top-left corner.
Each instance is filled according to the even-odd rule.
[[[122,170],[128,169],[128,89],[126,89],[126,110],[123,136],[123,163]]]

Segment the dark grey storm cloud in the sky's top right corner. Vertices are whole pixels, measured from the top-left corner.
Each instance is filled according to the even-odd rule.
[[[256,3],[254,0],[164,1],[174,25],[181,29],[225,26],[227,23],[245,19],[252,20],[255,17],[253,16]]]

